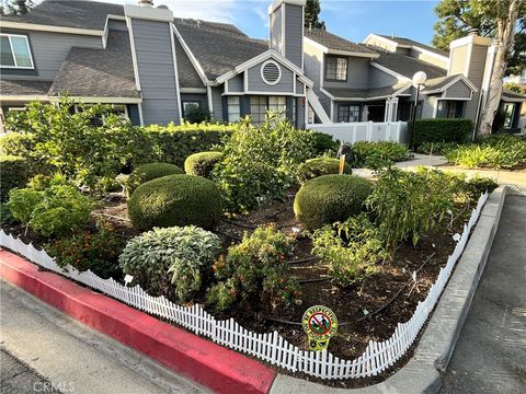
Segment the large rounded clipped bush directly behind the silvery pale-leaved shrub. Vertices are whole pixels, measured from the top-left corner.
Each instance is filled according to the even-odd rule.
[[[221,216],[216,184],[195,175],[168,175],[144,183],[128,199],[128,216],[140,230],[195,224],[211,228]]]

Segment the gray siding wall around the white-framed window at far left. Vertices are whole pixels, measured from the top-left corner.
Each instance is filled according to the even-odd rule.
[[[54,80],[71,47],[102,48],[102,37],[79,34],[27,32],[9,30],[10,33],[26,34],[30,39],[33,61],[37,76],[11,76],[2,70],[2,76],[13,79]]]

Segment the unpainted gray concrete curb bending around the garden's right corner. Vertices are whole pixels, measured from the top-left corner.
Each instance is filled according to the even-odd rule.
[[[271,394],[433,394],[442,386],[441,372],[449,363],[469,312],[491,245],[499,228],[508,187],[495,189],[489,197],[473,233],[419,341],[413,358],[385,382],[363,389],[331,389],[305,380],[278,374]]]

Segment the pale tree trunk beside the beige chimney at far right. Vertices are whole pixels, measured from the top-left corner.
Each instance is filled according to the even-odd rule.
[[[508,3],[507,15],[498,19],[498,39],[499,47],[495,54],[495,63],[491,74],[488,99],[482,109],[481,121],[477,130],[477,136],[488,136],[491,134],[491,127],[495,118],[502,96],[503,78],[506,71],[507,61],[515,44],[515,23],[518,18],[518,5],[522,0],[511,0]]]

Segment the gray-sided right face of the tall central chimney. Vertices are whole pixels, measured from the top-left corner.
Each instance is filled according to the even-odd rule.
[[[283,5],[282,5],[283,7]],[[304,8],[285,4],[285,57],[301,68]]]

